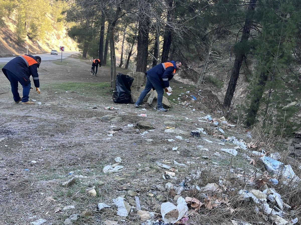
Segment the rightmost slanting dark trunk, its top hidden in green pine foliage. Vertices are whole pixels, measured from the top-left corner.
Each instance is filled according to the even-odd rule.
[[[257,112],[259,110],[260,101],[262,99],[262,95],[265,89],[266,81],[268,80],[268,71],[263,71],[260,73],[259,80],[257,86],[254,91],[254,95],[252,97],[250,109],[246,119],[247,127],[254,125]]]

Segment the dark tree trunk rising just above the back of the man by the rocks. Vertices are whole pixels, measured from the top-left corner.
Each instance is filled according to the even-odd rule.
[[[164,31],[161,63],[166,62],[168,60],[169,49],[172,43],[172,29],[170,27],[170,24],[173,22],[173,17],[174,17],[174,10],[172,9],[173,0],[166,0],[166,2],[168,4],[167,24],[165,26],[165,31]]]

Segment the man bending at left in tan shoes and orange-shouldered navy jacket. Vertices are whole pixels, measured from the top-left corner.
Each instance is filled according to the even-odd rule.
[[[40,56],[19,55],[9,61],[2,71],[7,79],[11,82],[11,92],[13,93],[15,103],[22,101],[22,105],[33,105],[34,102],[29,100],[29,90],[31,83],[29,77],[33,77],[33,83],[38,94],[40,91],[40,82],[38,68],[41,64]],[[23,96],[20,97],[18,92],[18,82],[23,87]]]

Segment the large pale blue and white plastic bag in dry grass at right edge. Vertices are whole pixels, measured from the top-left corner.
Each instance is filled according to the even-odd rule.
[[[282,176],[292,182],[300,181],[300,178],[296,176],[290,165],[284,165],[284,163],[281,163],[267,156],[262,156],[260,160],[263,162],[263,164],[265,164],[265,169],[268,170],[268,172]],[[286,184],[288,183],[286,182]]]

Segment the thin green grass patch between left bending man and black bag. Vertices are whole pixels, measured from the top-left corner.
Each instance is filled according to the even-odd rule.
[[[112,94],[111,84],[109,82],[92,83],[92,82],[63,82],[46,84],[45,89],[49,91],[69,91],[78,92],[80,95],[107,95]]]

